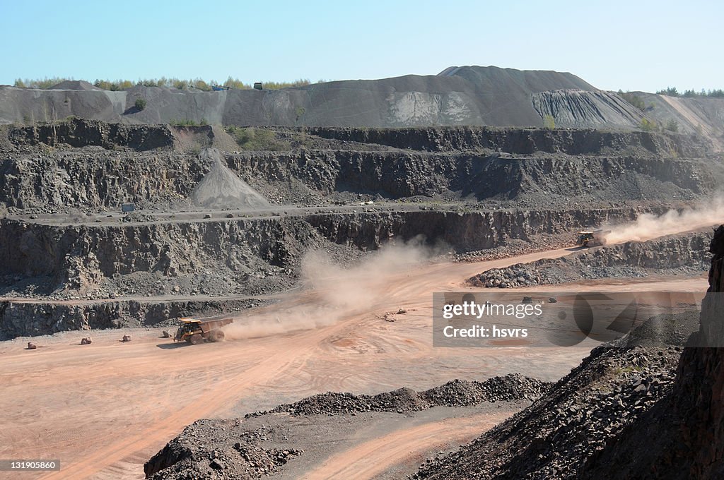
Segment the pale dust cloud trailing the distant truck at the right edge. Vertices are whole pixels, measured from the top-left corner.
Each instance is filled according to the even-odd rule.
[[[606,244],[620,244],[625,241],[646,241],[660,236],[673,235],[724,223],[724,197],[717,197],[706,205],[669,210],[662,215],[644,213],[636,221],[605,228]]]

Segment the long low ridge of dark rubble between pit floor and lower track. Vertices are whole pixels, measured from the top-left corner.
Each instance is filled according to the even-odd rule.
[[[550,383],[521,374],[492,377],[484,382],[452,380],[445,385],[417,393],[400,388],[378,395],[352,393],[321,393],[295,403],[280,405],[270,411],[248,413],[247,417],[269,413],[292,415],[339,415],[370,411],[412,413],[433,406],[471,406],[484,402],[532,400],[546,392]]]

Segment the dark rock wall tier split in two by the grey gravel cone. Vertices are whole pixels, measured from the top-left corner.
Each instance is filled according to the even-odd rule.
[[[652,150],[666,147],[664,142]],[[509,158],[496,153],[301,150],[227,155],[225,160],[256,191],[281,204],[329,201],[329,194],[561,206],[636,198],[670,202],[692,200],[724,181],[718,160],[646,152],[643,157],[619,152]],[[0,204],[47,212],[98,211],[121,202],[139,207],[185,202],[210,167],[209,160],[198,155],[162,150],[86,148],[8,155],[0,158]]]

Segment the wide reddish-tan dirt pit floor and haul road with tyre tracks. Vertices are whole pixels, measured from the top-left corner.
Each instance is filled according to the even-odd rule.
[[[0,345],[0,458],[60,459],[62,470],[0,472],[0,478],[143,478],[143,463],[196,419],[240,416],[327,390],[424,390],[453,378],[484,380],[513,372],[556,380],[587,351],[433,350],[432,292],[460,291],[465,278],[487,268],[568,253],[399,267],[374,284],[360,280],[358,289],[369,295],[362,311],[359,305],[330,309],[329,296],[319,288],[334,289],[338,282],[327,279],[327,286],[313,293],[290,292],[281,303],[256,310],[253,319],[237,319],[236,329],[227,331],[232,340],[225,343],[175,346],[159,338],[161,329],[134,330],[130,343],[118,341],[119,330],[93,333],[89,346],[78,345],[86,332],[42,338],[34,351],[23,350],[18,341],[5,342]],[[705,283],[697,278],[660,287],[704,291]],[[626,284],[599,288],[630,290]],[[398,307],[408,312],[396,315],[395,322],[382,320]],[[295,322],[295,314],[306,321]],[[310,323],[310,316],[319,321]],[[325,316],[332,320],[324,321]],[[249,336],[255,338],[243,338]],[[458,429],[455,422],[448,425],[450,431]],[[410,449],[400,455],[410,455]],[[394,461],[384,459],[386,465]]]

